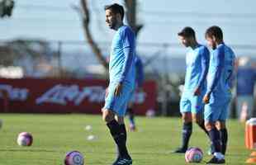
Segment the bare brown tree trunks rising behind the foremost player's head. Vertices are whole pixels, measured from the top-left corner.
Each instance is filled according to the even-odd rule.
[[[136,0],[124,0],[126,6],[126,19],[130,27],[135,31],[135,35],[138,35],[138,32],[142,29],[143,25],[137,24],[136,19]],[[82,17],[83,21],[83,31],[85,33],[85,38],[88,40],[88,44],[91,46],[93,53],[97,56],[99,62],[104,66],[106,71],[108,70],[108,63],[107,60],[102,55],[102,51],[97,46],[97,43],[92,39],[92,34],[89,28],[90,24],[90,12],[88,9],[88,2],[87,0],[80,1],[81,7],[73,7],[78,11],[78,13]]]

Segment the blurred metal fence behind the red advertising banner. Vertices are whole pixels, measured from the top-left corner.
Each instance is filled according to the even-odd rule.
[[[111,43],[98,43],[107,60]],[[256,46],[234,45],[239,55],[254,54]],[[249,53],[248,53],[249,52]],[[178,44],[139,43],[137,54],[144,62],[145,78],[158,84],[161,115],[177,115],[179,86],[185,75],[185,53]],[[107,78],[85,41],[0,41],[0,77],[4,78]]]

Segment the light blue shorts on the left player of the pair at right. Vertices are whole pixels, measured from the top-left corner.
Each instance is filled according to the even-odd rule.
[[[180,112],[191,112],[193,114],[201,113],[203,110],[202,95],[193,96],[192,93],[183,93],[179,102]]]

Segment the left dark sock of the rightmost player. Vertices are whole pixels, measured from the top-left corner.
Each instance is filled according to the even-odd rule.
[[[214,146],[214,151],[216,153],[220,153],[221,150],[221,144],[220,144],[220,131],[216,128],[211,129],[208,131],[209,137],[211,139],[211,144]]]

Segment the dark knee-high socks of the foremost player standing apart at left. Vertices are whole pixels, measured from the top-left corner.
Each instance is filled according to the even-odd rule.
[[[120,155],[122,158],[130,158],[126,148],[126,126],[119,125],[116,120],[111,120],[111,122],[107,123],[107,127],[111,132],[112,138],[116,142],[118,156]]]

